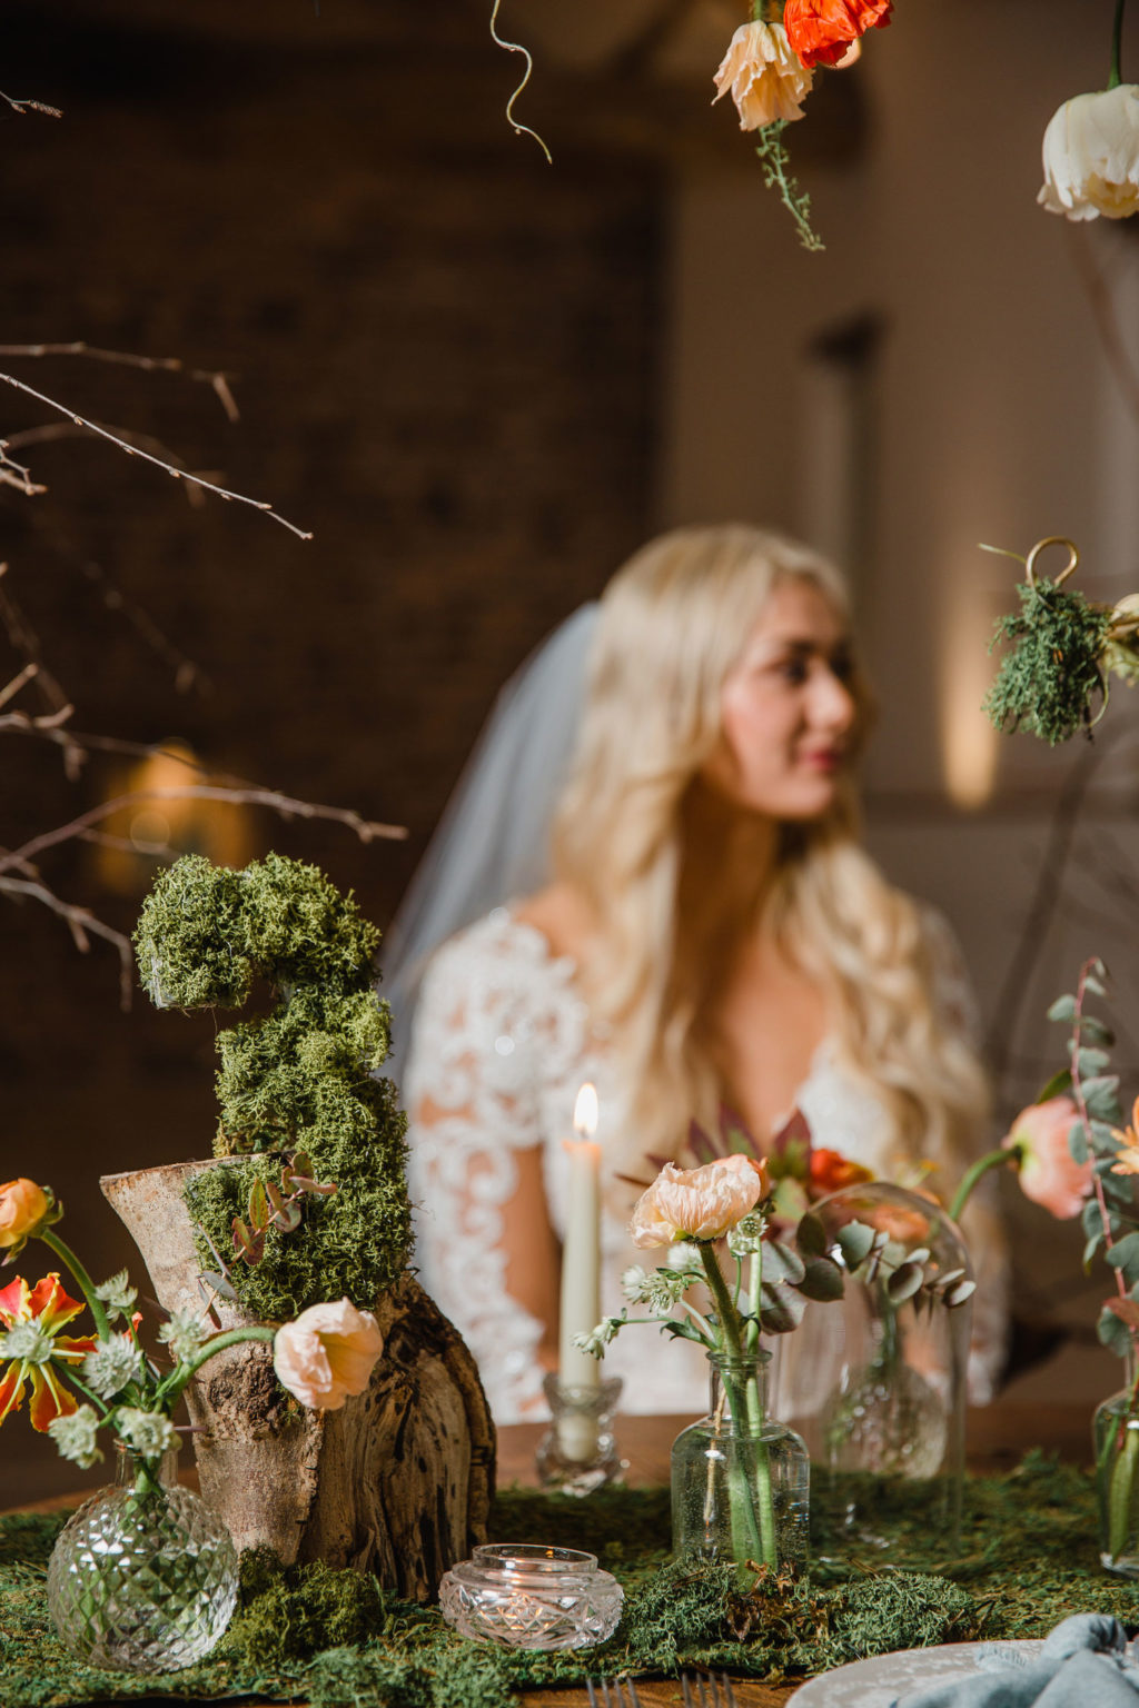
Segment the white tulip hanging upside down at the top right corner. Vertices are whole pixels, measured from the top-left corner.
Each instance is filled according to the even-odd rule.
[[[1139,85],[1074,96],[1054,113],[1037,202],[1067,219],[1139,212]]]

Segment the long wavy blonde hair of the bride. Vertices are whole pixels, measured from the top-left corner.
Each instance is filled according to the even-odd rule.
[[[620,1038],[632,1102],[628,1153],[615,1165],[637,1173],[645,1151],[678,1155],[688,1117],[716,1126],[731,1102],[707,1015],[733,948],[763,922],[828,992],[842,1066],[883,1102],[900,1163],[949,1165],[951,1179],[975,1151],[987,1107],[963,1016],[936,994],[953,946],[859,847],[852,787],[823,818],[780,827],[774,883],[768,873],[683,888],[724,678],[787,579],[818,588],[845,623],[847,591],[828,562],[743,524],[651,541],[601,601],[552,854],[555,881],[584,897],[598,927],[581,980],[594,1018]],[[864,729],[857,670],[850,690]]]

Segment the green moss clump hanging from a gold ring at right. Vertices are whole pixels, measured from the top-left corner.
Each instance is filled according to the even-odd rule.
[[[997,729],[1026,729],[1052,746],[1091,729],[1112,611],[1043,577],[1018,586],[1019,613],[1001,617],[989,651],[1011,640],[984,711]]]

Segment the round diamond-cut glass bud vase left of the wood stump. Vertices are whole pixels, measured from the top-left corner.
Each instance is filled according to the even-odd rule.
[[[65,1648],[92,1667],[176,1672],[225,1631],[237,1553],[222,1520],[178,1483],[178,1452],[116,1454],[116,1481],[56,1537],[48,1611]]]

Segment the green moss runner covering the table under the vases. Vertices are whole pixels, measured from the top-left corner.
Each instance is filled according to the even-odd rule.
[[[164,1677],[97,1672],[70,1660],[44,1600],[51,1544],[67,1515],[0,1520],[0,1703],[268,1696],[319,1708],[507,1708],[519,1691],[589,1674],[727,1667],[797,1677],[866,1655],[973,1638],[1043,1636],[1069,1612],[1139,1623],[1139,1585],[1100,1570],[1095,1489],[1084,1471],[1030,1454],[999,1477],[970,1477],[961,1549],[944,1553],[937,1491],[878,1491],[874,1541],[844,1525],[844,1481],[813,1493],[809,1578],[743,1588],[729,1568],[668,1565],[666,1489],[587,1500],[507,1489],[492,1537],[596,1553],[625,1588],[613,1638],[584,1653],[521,1653],[456,1636],[432,1607],[386,1595],[357,1571],[246,1556],[239,1612],[210,1660]],[[616,1539],[616,1541],[615,1541]]]

